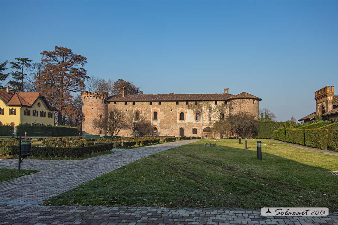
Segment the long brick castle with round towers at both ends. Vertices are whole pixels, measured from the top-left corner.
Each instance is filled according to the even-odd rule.
[[[104,118],[113,108],[143,117],[151,122],[154,133],[175,136],[213,138],[212,124],[224,119],[229,113],[246,111],[258,119],[259,97],[242,92],[237,95],[214,94],[122,94],[108,96],[106,92],[81,92],[83,101],[82,133],[105,135],[106,131],[95,128],[93,121]],[[111,135],[111,134],[109,134]],[[113,134],[115,135],[115,134]],[[121,130],[119,136],[133,136],[131,130]]]

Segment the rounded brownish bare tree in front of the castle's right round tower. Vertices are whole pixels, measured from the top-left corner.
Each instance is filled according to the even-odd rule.
[[[226,121],[243,138],[251,137],[258,129],[258,122],[255,120],[255,116],[248,112],[242,111],[238,114],[230,114]]]

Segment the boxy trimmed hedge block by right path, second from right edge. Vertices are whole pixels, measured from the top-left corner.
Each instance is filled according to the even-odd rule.
[[[306,129],[305,145],[313,148],[326,149],[328,147],[328,130]]]

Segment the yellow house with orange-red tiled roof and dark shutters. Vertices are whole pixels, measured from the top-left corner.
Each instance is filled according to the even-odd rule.
[[[0,125],[17,126],[23,123],[54,125],[54,111],[39,92],[10,92],[0,90]]]

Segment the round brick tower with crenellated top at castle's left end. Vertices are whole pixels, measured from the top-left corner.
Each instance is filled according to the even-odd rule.
[[[82,134],[106,134],[107,132],[100,128],[94,128],[93,121],[95,119],[104,118],[108,114],[107,92],[81,91],[82,99]]]

